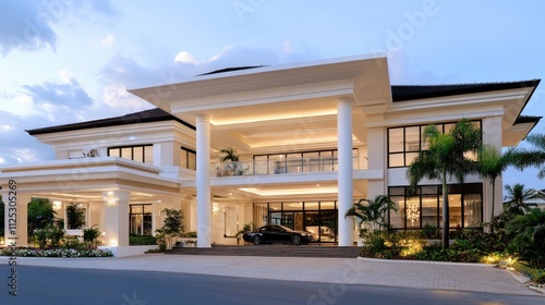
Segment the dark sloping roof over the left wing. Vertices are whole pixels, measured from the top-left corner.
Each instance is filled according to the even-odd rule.
[[[161,121],[177,121],[192,130],[195,130],[195,126],[178,119],[177,117],[168,113],[167,111],[155,108],[149,110],[144,110],[135,113],[129,113],[122,117],[108,118],[95,121],[87,121],[74,124],[36,129],[26,131],[31,135],[37,134],[48,134],[48,133],[59,133],[59,132],[68,132],[68,131],[77,131],[77,130],[87,130],[87,129],[98,129],[98,127],[109,127],[109,126],[120,126],[120,125],[129,125],[136,123],[150,123],[150,122],[161,122]]]

